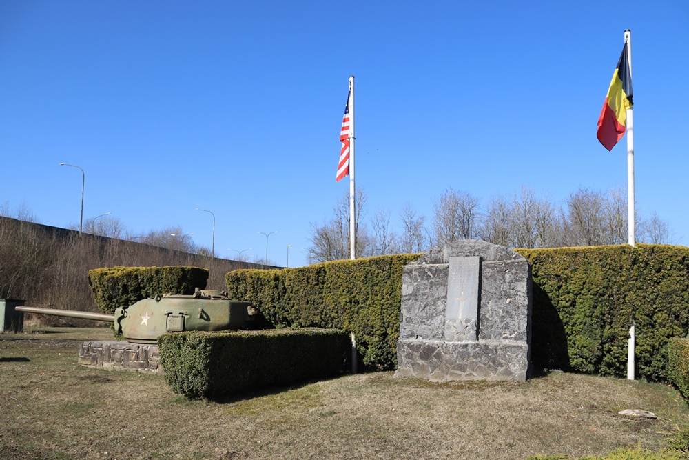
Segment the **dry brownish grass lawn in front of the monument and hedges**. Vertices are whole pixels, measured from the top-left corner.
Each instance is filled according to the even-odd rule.
[[[657,450],[689,421],[666,386],[562,373],[435,384],[382,372],[189,401],[163,377],[79,366],[79,341],[99,330],[78,331],[0,335],[1,459],[579,457]],[[628,408],[659,419],[617,415]]]

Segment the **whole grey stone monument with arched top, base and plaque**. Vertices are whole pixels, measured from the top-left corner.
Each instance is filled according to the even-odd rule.
[[[524,381],[530,346],[531,267],[520,254],[465,240],[404,267],[395,377]]]

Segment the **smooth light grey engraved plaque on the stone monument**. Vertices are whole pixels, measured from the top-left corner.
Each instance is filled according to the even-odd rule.
[[[445,319],[476,319],[480,257],[450,257]]]

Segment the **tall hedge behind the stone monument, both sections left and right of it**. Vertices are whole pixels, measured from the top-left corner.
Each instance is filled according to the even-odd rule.
[[[637,244],[517,249],[533,273],[535,369],[624,377],[636,324],[637,375],[665,380],[670,337],[689,329],[689,248]],[[353,332],[367,366],[395,368],[402,267],[420,254],[236,270],[232,298],[251,301],[274,326]]]

